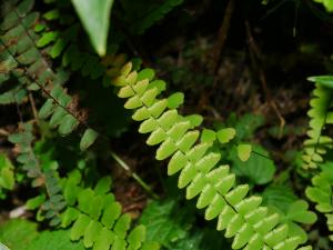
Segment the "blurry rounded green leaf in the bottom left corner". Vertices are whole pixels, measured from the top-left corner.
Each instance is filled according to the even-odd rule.
[[[23,219],[13,219],[0,224],[0,240],[10,250],[21,250],[37,237],[37,223]]]

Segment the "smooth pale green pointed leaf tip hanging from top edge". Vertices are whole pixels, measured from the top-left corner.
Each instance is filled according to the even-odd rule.
[[[93,48],[100,56],[104,56],[113,0],[101,0],[98,2],[72,0],[72,3],[90,37]]]

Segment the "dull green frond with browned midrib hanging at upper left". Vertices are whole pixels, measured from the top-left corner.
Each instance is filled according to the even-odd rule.
[[[33,0],[7,1],[2,10],[0,43],[0,103],[20,103],[29,90],[41,90],[48,100],[40,109],[40,118],[50,117],[50,126],[58,128],[61,134],[71,133],[78,124],[83,123],[84,113],[77,111],[77,102],[61,87],[65,80],[63,71],[54,73],[47,58],[38,47],[47,43],[39,38],[34,29],[39,13],[31,12]],[[81,57],[81,56],[80,56]],[[72,57],[71,57],[72,58]],[[90,67],[93,68],[93,67]],[[85,129],[80,147],[87,149],[97,139],[97,132]]]

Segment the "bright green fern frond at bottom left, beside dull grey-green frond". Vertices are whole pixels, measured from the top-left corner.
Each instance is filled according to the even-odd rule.
[[[80,186],[80,173],[63,179],[63,193],[68,203],[61,214],[61,227],[71,226],[71,239],[83,238],[85,248],[94,250],[155,250],[155,242],[145,242],[145,227],[137,226],[130,232],[131,217],[121,213],[121,204],[110,193],[111,179],[102,178],[94,189]]]

